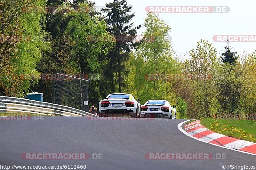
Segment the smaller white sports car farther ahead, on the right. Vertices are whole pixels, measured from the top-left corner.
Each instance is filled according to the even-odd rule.
[[[167,100],[149,100],[140,106],[140,117],[176,119],[175,108]]]

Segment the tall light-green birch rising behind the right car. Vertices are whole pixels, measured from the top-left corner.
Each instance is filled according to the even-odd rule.
[[[164,75],[180,72],[180,63],[173,59],[173,51],[168,41],[171,27],[161,20],[158,15],[149,13],[144,20],[144,35],[151,39],[144,39],[135,53],[132,53],[130,68],[126,77],[127,91],[140,98],[143,102],[153,99],[166,99],[175,102],[172,92],[172,80]]]

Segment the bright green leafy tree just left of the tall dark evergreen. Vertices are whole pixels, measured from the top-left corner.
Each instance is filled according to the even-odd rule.
[[[90,8],[86,3],[80,3],[79,7],[81,9]],[[67,59],[67,68],[73,67],[76,72],[89,75],[101,74],[106,55],[115,43],[107,31],[106,22],[102,18],[79,10],[67,13],[67,15],[72,18],[68,22],[65,37],[68,37],[73,45],[68,45],[71,48],[68,55],[63,46],[64,53],[60,54],[59,59],[62,61]],[[99,35],[100,40],[94,41],[93,37]],[[66,43],[70,44],[70,41],[66,41]],[[101,99],[99,84],[100,81],[95,79],[90,84],[89,98],[93,104],[98,103]]]

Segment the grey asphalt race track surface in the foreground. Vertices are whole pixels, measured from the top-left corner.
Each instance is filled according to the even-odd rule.
[[[223,169],[255,166],[254,155],[197,141],[177,125],[185,120],[90,120],[44,117],[0,120],[0,165],[86,165],[86,169]],[[93,153],[102,159],[26,160],[23,153]],[[212,153],[226,159],[148,160],[147,153]],[[94,154],[95,155],[95,154]],[[253,165],[254,164],[254,165]]]

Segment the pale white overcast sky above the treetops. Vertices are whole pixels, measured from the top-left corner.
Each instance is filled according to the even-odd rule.
[[[93,1],[93,0],[92,0]],[[105,6],[112,0],[95,0],[97,6]],[[256,15],[254,0],[127,0],[135,12],[134,25],[143,24],[147,6],[228,6],[228,13],[160,13],[161,19],[172,27],[172,46],[181,59],[188,56],[188,51],[196,48],[200,39],[208,40],[218,53],[224,50],[226,42],[214,42],[214,35],[256,35]],[[138,34],[143,32],[142,27]],[[252,53],[256,42],[231,42],[238,53],[245,50]]]

